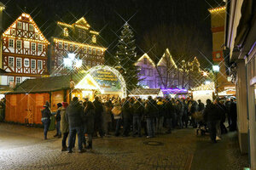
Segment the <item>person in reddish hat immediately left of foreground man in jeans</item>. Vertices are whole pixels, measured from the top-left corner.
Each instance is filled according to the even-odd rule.
[[[62,107],[61,107],[61,134],[63,134],[62,138],[62,149],[61,151],[67,150],[67,136],[69,133],[68,130],[68,122],[66,121],[66,110],[67,110],[68,103],[67,102],[62,102]]]

